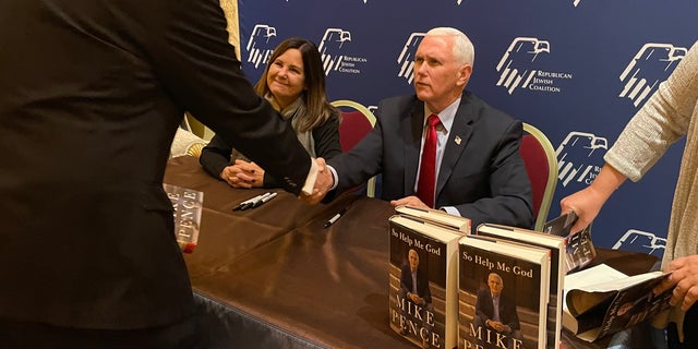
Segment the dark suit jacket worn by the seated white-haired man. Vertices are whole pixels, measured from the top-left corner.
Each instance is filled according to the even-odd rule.
[[[414,195],[424,103],[414,95],[382,100],[376,119],[356,147],[327,161],[339,178],[337,192],[383,173],[383,200]],[[521,134],[520,121],[464,93],[444,151],[435,206],[455,206],[472,219],[473,229],[481,222],[530,228],[531,185],[519,155]]]

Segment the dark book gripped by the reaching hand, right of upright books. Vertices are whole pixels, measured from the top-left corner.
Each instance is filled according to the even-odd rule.
[[[579,233],[571,234],[571,226],[575,221],[577,221],[577,215],[574,212],[569,212],[549,220],[543,226],[543,232],[567,239],[567,253],[565,255],[567,273],[583,269],[597,257],[597,249],[591,240],[591,225]]]

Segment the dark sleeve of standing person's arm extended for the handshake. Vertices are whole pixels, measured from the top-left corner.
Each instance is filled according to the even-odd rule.
[[[144,31],[143,39],[166,89],[226,143],[298,194],[311,158],[293,130],[243,75],[218,1],[171,1],[157,11],[161,15],[144,21],[161,27]]]

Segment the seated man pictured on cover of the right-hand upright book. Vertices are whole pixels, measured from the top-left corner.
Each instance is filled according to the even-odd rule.
[[[516,312],[516,302],[502,294],[504,290],[504,280],[496,273],[488,276],[488,289],[478,292],[478,301],[476,303],[476,317],[473,327],[480,328],[485,326],[488,330],[494,330],[504,338],[507,348],[521,348],[524,339],[521,335],[521,324],[519,315]],[[496,336],[483,334],[478,337],[478,345],[482,348],[500,348]]]

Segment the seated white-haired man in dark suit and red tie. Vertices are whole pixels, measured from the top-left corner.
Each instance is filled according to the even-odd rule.
[[[349,153],[328,161],[334,193],[382,173],[383,200],[472,219],[530,228],[531,189],[519,155],[522,124],[469,92],[474,49],[454,28],[426,33],[414,56],[416,95],[382,100],[376,124]],[[421,191],[423,145],[438,117],[430,189]],[[434,182],[435,181],[435,182]],[[425,192],[426,194],[420,194]]]

